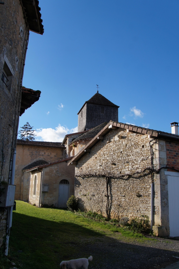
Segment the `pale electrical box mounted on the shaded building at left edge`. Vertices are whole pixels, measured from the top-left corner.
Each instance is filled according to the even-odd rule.
[[[15,185],[0,185],[0,207],[14,205]]]

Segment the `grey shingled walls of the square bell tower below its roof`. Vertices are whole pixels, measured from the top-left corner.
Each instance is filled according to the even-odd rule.
[[[101,107],[104,107],[104,114],[101,114]],[[81,117],[82,111],[83,116]],[[96,127],[110,120],[118,122],[117,107],[86,103],[82,111],[78,115],[78,132]]]

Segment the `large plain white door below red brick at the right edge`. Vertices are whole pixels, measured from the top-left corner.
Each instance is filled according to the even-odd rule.
[[[170,236],[179,236],[179,173],[167,174],[170,174],[168,175]]]

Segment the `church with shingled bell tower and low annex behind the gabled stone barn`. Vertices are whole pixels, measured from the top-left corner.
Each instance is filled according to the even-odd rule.
[[[75,167],[69,167],[67,162],[91,141],[108,121],[118,121],[118,108],[119,106],[97,91],[78,113],[78,132],[66,134],[62,143],[18,139],[15,199],[30,201],[36,205],[39,205],[40,201],[40,204],[66,207],[69,196],[74,194],[75,185]]]

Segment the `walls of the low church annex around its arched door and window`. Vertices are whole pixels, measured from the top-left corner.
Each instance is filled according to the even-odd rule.
[[[41,204],[54,204],[58,207],[58,190],[59,182],[62,179],[67,179],[69,182],[69,196],[74,195],[74,185],[75,185],[75,167],[74,165],[67,165],[67,163],[60,162],[59,164],[51,165],[47,168],[40,169],[43,171],[42,175],[42,185],[46,184],[49,186],[48,192],[43,192],[41,195]],[[26,173],[30,174],[30,172]],[[36,195],[33,195],[34,187],[34,176],[37,175],[37,191]],[[39,203],[39,193],[40,193],[40,176],[41,173],[37,170],[31,172],[30,178],[30,194],[29,201],[33,204],[38,205]]]

